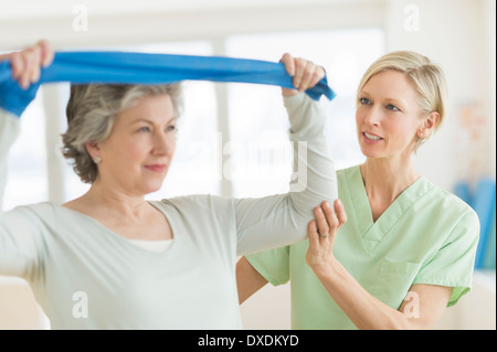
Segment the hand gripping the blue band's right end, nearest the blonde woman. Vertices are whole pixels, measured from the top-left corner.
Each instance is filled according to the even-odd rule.
[[[299,92],[316,86],[325,77],[325,70],[305,58],[294,58],[290,54],[283,55],[281,62],[286,72],[293,77],[293,85]]]

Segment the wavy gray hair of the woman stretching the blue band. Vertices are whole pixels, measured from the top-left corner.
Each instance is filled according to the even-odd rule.
[[[179,84],[171,85],[72,85],[67,103],[67,131],[62,135],[64,158],[85,183],[93,183],[98,169],[86,150],[86,142],[102,142],[110,134],[115,117],[150,95],[168,95],[175,117],[182,111]]]

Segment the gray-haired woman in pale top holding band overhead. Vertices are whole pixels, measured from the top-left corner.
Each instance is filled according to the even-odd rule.
[[[42,42],[7,58],[27,88],[51,57]],[[324,76],[305,60],[283,62],[300,90]],[[336,195],[325,114],[303,93],[283,94],[290,139],[307,141],[304,191],[148,202],[175,156],[179,87],[73,86],[64,156],[89,191],[2,214],[0,274],[29,281],[54,329],[241,328],[236,256],[304,239],[313,207]],[[2,111],[0,125],[4,164],[19,121]]]

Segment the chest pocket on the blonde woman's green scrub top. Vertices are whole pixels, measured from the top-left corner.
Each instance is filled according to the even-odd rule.
[[[421,264],[383,259],[368,291],[383,303],[399,309],[408,295]]]

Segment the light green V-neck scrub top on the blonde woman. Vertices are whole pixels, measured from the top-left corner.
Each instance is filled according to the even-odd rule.
[[[399,309],[410,287],[453,287],[447,307],[469,291],[479,221],[454,194],[417,179],[373,222],[360,167],[339,170],[348,221],[334,254],[372,296]],[[308,241],[247,256],[273,285],[290,280],[293,329],[356,329],[306,263]]]

